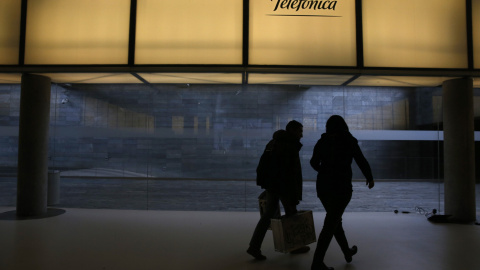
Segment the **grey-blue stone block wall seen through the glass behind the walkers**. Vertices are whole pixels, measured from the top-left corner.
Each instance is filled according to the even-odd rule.
[[[250,85],[53,85],[50,167],[70,172],[160,178],[254,179],[272,133],[304,124],[309,159],[332,114],[361,130],[438,130],[441,88]],[[0,168],[13,170],[19,85],[0,85]],[[441,176],[435,140],[360,141],[374,177],[433,180]],[[12,169],[13,168],[13,169]],[[354,165],[354,178],[363,179]]]

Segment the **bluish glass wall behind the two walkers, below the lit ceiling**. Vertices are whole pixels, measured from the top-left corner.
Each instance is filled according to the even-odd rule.
[[[377,180],[368,190],[353,165],[347,211],[442,211],[441,95],[412,87],[53,85],[49,166],[61,175],[58,206],[258,211],[259,157],[274,131],[297,120],[300,208],[322,211],[309,159],[326,120],[339,114]],[[479,131],[480,90],[475,96]],[[19,85],[0,85],[2,206],[15,205],[19,99]]]

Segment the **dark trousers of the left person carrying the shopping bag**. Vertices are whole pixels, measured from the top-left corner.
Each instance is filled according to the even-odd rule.
[[[278,194],[267,190],[265,211],[263,212],[262,217],[258,221],[255,231],[253,232],[252,239],[250,240],[251,248],[260,249],[262,247],[263,239],[268,231],[268,227],[270,227],[270,220],[279,211],[279,201],[282,202],[283,208],[285,209],[285,215],[289,216],[297,212],[295,203],[292,203],[288,199],[282,198]]]

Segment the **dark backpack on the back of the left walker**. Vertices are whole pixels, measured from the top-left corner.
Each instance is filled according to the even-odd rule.
[[[261,186],[263,189],[273,188],[273,184],[277,174],[277,168],[275,166],[275,139],[272,139],[265,146],[260,161],[257,166],[257,186]]]

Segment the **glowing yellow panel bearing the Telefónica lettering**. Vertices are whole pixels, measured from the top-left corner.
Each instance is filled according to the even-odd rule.
[[[249,64],[356,65],[355,0],[252,0],[249,27]]]

